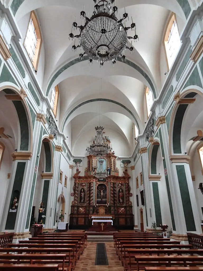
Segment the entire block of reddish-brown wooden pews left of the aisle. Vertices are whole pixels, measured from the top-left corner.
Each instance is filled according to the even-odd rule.
[[[0,271],[73,271],[86,233],[47,233],[0,248]]]

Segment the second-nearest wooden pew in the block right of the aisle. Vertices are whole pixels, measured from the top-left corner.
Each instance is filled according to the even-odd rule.
[[[139,271],[140,266],[171,266],[171,265],[179,265],[179,266],[196,266],[203,265],[203,256],[135,256],[135,261],[137,266],[135,269]],[[132,268],[131,268],[132,270]]]

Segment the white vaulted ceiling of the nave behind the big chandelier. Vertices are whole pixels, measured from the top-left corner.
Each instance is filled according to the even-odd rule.
[[[149,80],[146,79],[146,76],[141,75],[139,70],[119,61],[114,67],[111,63],[105,63],[102,68],[96,62],[89,66],[88,60],[76,61],[76,64],[64,69],[59,76],[56,76],[55,74],[64,65],[78,58],[80,51],[72,51],[74,41],[69,40],[68,35],[71,33],[75,16],[77,22],[81,22],[80,11],[83,5],[85,5],[86,14],[87,12],[91,14],[94,2],[93,0],[24,0],[21,2],[22,4],[16,9],[15,19],[22,33],[21,28],[23,27],[21,26],[24,25],[25,18],[29,20],[28,15],[32,10],[37,13],[44,46],[42,90],[46,93],[47,89],[59,85],[60,98],[57,120],[61,129],[65,126],[64,134],[69,137],[67,143],[73,154],[79,155],[79,149],[76,146],[79,146],[78,142],[81,142],[82,134],[84,140],[86,140],[87,131],[94,137],[93,129],[98,125],[98,118],[101,114],[100,125],[106,127],[109,134],[117,133],[120,136],[120,142],[125,141],[126,156],[131,156],[135,146],[132,133],[133,124],[138,124],[140,132],[142,132],[146,122],[145,86],[151,87],[150,80],[156,91],[156,96],[162,87],[161,74],[163,71],[160,70],[160,62],[162,61],[160,52],[168,17],[171,12],[175,12],[181,25],[179,30],[182,30],[181,28],[186,21],[178,1],[116,1],[119,9],[118,16],[119,13],[124,13],[124,6],[126,6],[129,19],[131,16],[133,17],[139,36],[139,41],[133,42],[134,53],[130,54],[126,51],[127,59],[136,64],[148,76]],[[129,20],[130,23],[131,20]],[[50,82],[51,85],[48,88]],[[50,98],[50,93],[48,97]],[[86,103],[91,99],[100,98],[113,102]],[[76,109],[81,103],[84,105]],[[85,147],[87,143],[84,142]]]

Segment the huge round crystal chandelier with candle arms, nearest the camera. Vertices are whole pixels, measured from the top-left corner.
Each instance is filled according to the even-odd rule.
[[[112,60],[112,65],[114,65],[118,56],[122,58],[122,61],[125,61],[125,52],[122,55],[122,51],[129,49],[132,53],[134,50],[132,40],[139,39],[136,34],[136,25],[133,22],[133,17],[130,27],[126,27],[126,19],[129,19],[126,8],[123,17],[120,15],[120,20],[117,19],[118,8],[116,7],[116,0],[93,1],[95,5],[91,18],[88,18],[89,14],[86,16],[84,6],[80,12],[80,18],[82,18],[81,25],[77,24],[75,17],[69,39],[78,38],[79,44],[76,46],[74,42],[72,50],[75,51],[80,47],[80,59],[83,58],[84,54],[87,54],[89,56],[89,64],[93,60],[97,60],[97,62],[100,62],[100,66],[103,66],[105,61]],[[115,5],[113,6],[114,2]],[[73,28],[74,30],[79,28],[80,33],[74,36],[72,33]],[[127,35],[127,31],[130,28],[132,31],[135,30],[133,37]],[[131,40],[131,47],[127,46],[128,39]]]

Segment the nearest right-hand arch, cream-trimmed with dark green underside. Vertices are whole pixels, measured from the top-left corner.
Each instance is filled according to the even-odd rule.
[[[195,98],[196,95],[203,97],[203,93],[197,89],[188,89],[180,93],[179,100],[182,98]],[[181,129],[182,121],[189,104],[176,103],[173,107],[169,125],[169,155],[182,154],[181,148]]]

